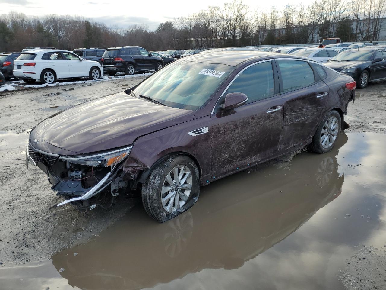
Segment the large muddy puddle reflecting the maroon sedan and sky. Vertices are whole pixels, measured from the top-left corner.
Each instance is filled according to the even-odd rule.
[[[344,289],[363,245],[386,244],[386,135],[340,135],[201,188],[159,224],[140,202],[86,244],[0,268],[1,289]],[[385,276],[386,278],[386,276]]]

